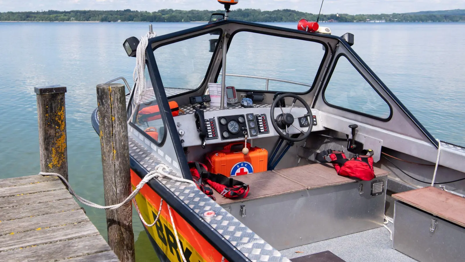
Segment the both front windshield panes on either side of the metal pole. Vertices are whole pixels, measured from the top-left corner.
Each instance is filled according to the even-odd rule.
[[[220,33],[198,35],[153,51],[165,89],[181,89],[175,91],[180,94],[203,84],[215,44],[221,42]],[[227,85],[238,90],[293,93],[312,89],[325,56],[321,43],[248,31],[233,33],[231,37],[226,59]]]

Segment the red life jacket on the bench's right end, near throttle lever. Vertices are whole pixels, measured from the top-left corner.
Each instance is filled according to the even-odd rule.
[[[363,155],[355,155],[352,159],[346,159],[344,152],[331,149],[317,153],[315,159],[321,163],[331,163],[340,176],[354,177],[362,180],[375,178],[373,171],[373,151],[364,150]],[[329,156],[331,161],[325,159]]]

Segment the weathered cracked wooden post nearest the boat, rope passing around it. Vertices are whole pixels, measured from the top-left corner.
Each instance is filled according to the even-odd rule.
[[[121,203],[131,193],[124,85],[97,85],[105,205]],[[134,262],[133,206],[106,210],[108,244],[121,262]]]

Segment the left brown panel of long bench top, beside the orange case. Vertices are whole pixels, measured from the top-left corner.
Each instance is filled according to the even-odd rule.
[[[259,199],[268,196],[275,196],[285,193],[292,193],[299,190],[305,190],[306,187],[287,179],[272,171],[252,173],[243,176],[234,177],[241,182],[250,186],[250,191],[247,197],[241,199],[228,199],[213,190],[216,197],[216,202],[219,205],[231,204],[234,202],[242,202],[247,200]]]

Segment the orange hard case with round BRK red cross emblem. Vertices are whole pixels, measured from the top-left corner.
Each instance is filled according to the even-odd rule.
[[[233,145],[244,146],[244,142],[231,143],[221,151],[214,151],[206,155],[208,172],[230,177],[266,171],[268,165],[268,151],[266,149],[250,148],[250,144],[247,143],[249,153],[244,155],[242,147],[239,151],[231,150]]]

